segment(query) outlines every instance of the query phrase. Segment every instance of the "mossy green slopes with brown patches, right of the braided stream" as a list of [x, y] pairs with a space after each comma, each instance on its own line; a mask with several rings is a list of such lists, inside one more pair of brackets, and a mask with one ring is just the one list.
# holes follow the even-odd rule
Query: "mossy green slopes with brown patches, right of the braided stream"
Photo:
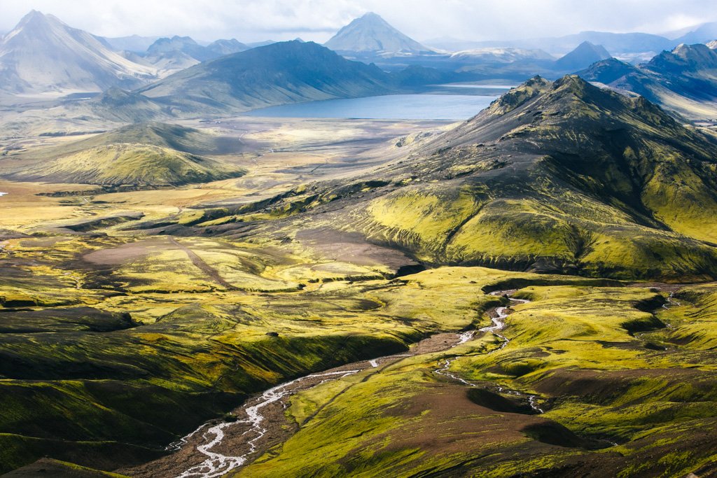
[[[699, 340], [653, 345], [683, 337], [673, 317], [713, 308], [712, 289], [690, 288], [679, 297], [695, 302], [663, 310], [647, 289], [526, 287], [516, 297], [533, 302], [515, 307], [505, 348], [485, 334], [299, 393], [287, 411], [299, 431], [235, 475], [697, 473], [717, 458], [713, 360], [695, 355]], [[631, 333], [636, 325], [646, 331]], [[456, 355], [450, 370], [477, 388], [435, 373]], [[527, 406], [530, 394], [544, 414]]]

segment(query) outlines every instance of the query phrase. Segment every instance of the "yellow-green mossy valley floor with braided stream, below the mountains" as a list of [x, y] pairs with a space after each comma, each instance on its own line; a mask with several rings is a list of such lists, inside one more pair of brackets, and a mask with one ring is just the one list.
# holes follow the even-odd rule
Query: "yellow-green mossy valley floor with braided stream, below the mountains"
[[[168, 230], [374, 171], [449, 126], [186, 125], [238, 139], [218, 156], [247, 173], [0, 181], [0, 473], [717, 476], [717, 284], [432, 268], [342, 231]], [[66, 141], [4, 143], [37, 158], [0, 170]]]

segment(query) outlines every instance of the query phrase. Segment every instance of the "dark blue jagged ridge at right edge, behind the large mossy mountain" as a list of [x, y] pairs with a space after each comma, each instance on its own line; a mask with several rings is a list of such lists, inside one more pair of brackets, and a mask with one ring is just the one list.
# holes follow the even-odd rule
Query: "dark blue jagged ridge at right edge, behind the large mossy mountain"
[[704, 44], [680, 44], [633, 67], [598, 62], [581, 77], [617, 90], [635, 92], [687, 118], [717, 117], [717, 51]]

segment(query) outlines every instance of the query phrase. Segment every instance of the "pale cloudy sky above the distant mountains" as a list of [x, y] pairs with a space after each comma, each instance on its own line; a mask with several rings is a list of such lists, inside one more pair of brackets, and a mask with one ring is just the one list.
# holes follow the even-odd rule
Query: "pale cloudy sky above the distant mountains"
[[189, 35], [325, 42], [374, 11], [419, 41], [501, 40], [584, 30], [663, 33], [717, 21], [717, 0], [0, 0], [0, 32], [30, 9], [105, 37]]

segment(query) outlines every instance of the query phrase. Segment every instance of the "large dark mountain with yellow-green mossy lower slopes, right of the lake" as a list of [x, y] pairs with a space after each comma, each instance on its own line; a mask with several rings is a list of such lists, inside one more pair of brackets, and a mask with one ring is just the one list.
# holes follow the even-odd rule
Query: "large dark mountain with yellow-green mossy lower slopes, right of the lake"
[[[717, 277], [717, 138], [642, 97], [536, 77], [432, 138], [353, 181], [262, 206], [293, 216], [214, 232], [320, 241], [341, 231], [432, 266]], [[237, 212], [208, 210], [195, 224]]]

